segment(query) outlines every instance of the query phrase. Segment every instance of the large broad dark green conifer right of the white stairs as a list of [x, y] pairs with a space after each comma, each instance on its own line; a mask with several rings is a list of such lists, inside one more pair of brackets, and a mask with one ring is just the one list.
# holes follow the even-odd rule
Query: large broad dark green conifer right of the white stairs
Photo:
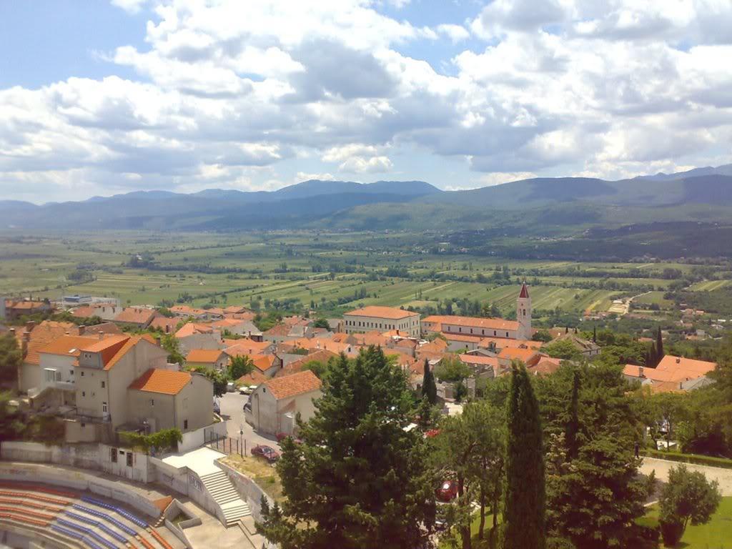
[[302, 444], [283, 442], [286, 497], [258, 531], [283, 549], [425, 548], [433, 481], [406, 374], [381, 348], [341, 355], [324, 379]]

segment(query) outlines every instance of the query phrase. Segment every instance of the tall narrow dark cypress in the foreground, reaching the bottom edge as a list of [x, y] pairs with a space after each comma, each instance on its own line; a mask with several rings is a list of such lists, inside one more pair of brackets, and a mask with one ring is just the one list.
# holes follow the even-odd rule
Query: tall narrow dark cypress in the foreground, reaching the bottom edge
[[514, 365], [507, 402], [504, 549], [544, 549], [545, 479], [539, 403], [523, 365]]

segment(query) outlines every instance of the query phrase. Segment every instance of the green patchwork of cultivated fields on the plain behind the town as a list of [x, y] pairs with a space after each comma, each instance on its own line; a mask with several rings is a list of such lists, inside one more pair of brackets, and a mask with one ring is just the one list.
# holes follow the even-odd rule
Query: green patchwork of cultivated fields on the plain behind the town
[[[664, 299], [673, 282], [662, 277], [664, 269], [685, 275], [693, 268], [425, 253], [420, 238], [322, 232], [5, 238], [0, 241], [0, 292], [50, 299], [77, 293], [112, 296], [122, 304], [259, 302], [263, 308], [315, 307], [327, 314], [360, 305], [425, 308], [468, 299], [509, 314], [525, 279], [534, 310], [580, 314], [608, 311], [613, 299], [638, 294], [643, 294], [639, 303], [673, 307]], [[703, 280], [690, 290], [727, 284]]]

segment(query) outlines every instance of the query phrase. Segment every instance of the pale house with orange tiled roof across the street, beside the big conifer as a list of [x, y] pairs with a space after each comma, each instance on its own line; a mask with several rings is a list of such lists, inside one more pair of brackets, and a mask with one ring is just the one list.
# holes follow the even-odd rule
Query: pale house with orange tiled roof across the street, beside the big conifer
[[272, 378], [260, 384], [244, 405], [244, 419], [259, 433], [294, 434], [296, 417], [306, 421], [315, 414], [321, 381], [310, 370]]

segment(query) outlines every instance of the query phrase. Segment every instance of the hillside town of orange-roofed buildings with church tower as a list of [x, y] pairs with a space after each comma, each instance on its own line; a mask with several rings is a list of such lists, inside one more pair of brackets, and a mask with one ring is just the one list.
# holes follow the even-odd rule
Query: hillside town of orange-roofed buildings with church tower
[[[168, 531], [151, 527], [154, 539], [147, 542], [157, 539], [163, 547], [179, 546], [181, 540], [195, 546], [211, 535], [228, 539], [232, 546], [248, 543], [258, 548], [267, 543], [255, 521], [266, 513], [262, 501], [275, 503], [282, 496], [258, 486], [261, 472], [251, 463], [274, 465], [283, 452], [281, 443], [299, 440], [303, 426], [316, 414], [324, 376], [339, 360], [358, 359], [378, 349], [389, 367], [403, 373], [414, 402], [429, 395], [430, 405], [449, 421], [461, 417], [464, 406], [490, 400], [496, 390], [492, 387], [500, 386], [517, 367], [530, 377], [550, 379], [571, 365], [602, 364], [622, 345], [607, 330], [586, 333], [566, 326], [532, 326], [531, 288], [526, 283], [515, 296], [516, 320], [422, 318], [403, 307], [366, 305], [341, 318], [324, 318], [315, 310], [283, 316], [264, 330], [257, 326], [261, 315], [244, 305], [122, 307], [115, 299], [90, 295], [64, 296], [56, 302], [0, 301], [0, 358], [4, 386], [10, 389], [2, 413], [22, 425], [4, 427], [0, 478], [20, 476], [30, 482], [37, 477], [68, 488], [56, 477], [55, 466], [61, 471], [83, 468], [92, 472], [81, 487], [113, 499], [113, 492], [95, 484], [102, 478], [98, 475], [133, 481], [135, 488], [127, 488], [122, 501], [148, 498], [149, 505], [159, 507], [154, 516], [175, 512], [193, 521], [185, 529], [168, 520]], [[676, 418], [664, 399], [714, 385], [717, 364], [665, 354], [660, 331], [657, 340], [642, 339], [625, 344], [648, 351], [635, 362], [629, 358], [617, 371], [627, 390], [637, 387], [638, 395], [646, 395], [643, 400], [659, 402], [652, 405], [660, 406], [658, 415], [646, 418], [650, 423], [643, 437], [644, 471], [655, 458], [668, 457], [662, 452], [680, 445], [679, 428], [671, 425]], [[433, 389], [426, 386], [430, 383]], [[426, 433], [445, 428], [439, 427], [439, 415], [417, 417], [406, 428], [418, 425]], [[637, 456], [638, 443], [635, 452]], [[37, 463], [44, 467], [39, 469]], [[454, 475], [444, 474], [435, 491], [438, 501], [458, 502], [463, 497]], [[37, 520], [32, 512], [23, 514], [23, 502], [31, 504], [56, 490], [30, 484], [16, 488], [26, 491], [15, 491], [21, 507], [8, 518], [21, 522]], [[73, 493], [63, 501], [85, 501], [86, 496]], [[176, 502], [174, 511], [171, 501]], [[181, 501], [190, 501], [195, 510]], [[143, 509], [149, 512], [149, 507]], [[40, 523], [53, 525], [53, 516], [44, 515], [46, 522]], [[55, 531], [63, 537], [91, 520], [77, 518], [59, 519]], [[144, 538], [142, 532], [135, 535]], [[94, 537], [115, 542], [99, 530]]]

